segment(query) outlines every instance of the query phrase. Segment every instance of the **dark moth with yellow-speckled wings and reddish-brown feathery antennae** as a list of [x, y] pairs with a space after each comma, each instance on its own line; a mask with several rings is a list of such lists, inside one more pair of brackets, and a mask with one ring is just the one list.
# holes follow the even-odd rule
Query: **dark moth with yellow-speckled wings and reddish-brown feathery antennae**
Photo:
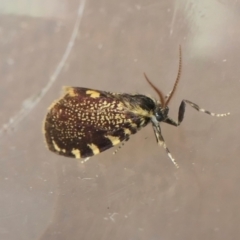
[[172, 157], [161, 133], [160, 123], [179, 126], [184, 118], [186, 104], [211, 116], [224, 117], [197, 104], [182, 100], [178, 120], [168, 116], [168, 105], [176, 91], [181, 75], [182, 55], [179, 48], [179, 69], [172, 91], [164, 94], [149, 80], [159, 99], [142, 94], [112, 93], [82, 87], [65, 87], [64, 95], [48, 110], [44, 121], [44, 135], [49, 150], [66, 157], [88, 158], [120, 142], [127, 141], [149, 123], [152, 124], [157, 143]]

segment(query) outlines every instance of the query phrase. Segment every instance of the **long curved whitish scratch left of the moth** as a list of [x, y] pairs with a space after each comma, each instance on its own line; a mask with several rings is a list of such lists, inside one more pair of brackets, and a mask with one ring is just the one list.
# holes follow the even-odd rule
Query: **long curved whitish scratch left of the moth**
[[12, 116], [7, 123], [3, 124], [0, 128], [0, 136], [3, 134], [4, 131], [6, 131], [9, 128], [16, 128], [17, 125], [30, 113], [30, 111], [42, 100], [42, 98], [45, 96], [45, 94], [49, 91], [49, 89], [52, 87], [53, 83], [56, 81], [57, 77], [61, 73], [64, 64], [67, 61], [67, 58], [70, 55], [70, 52], [73, 48], [73, 45], [76, 41], [77, 34], [79, 31], [79, 26], [81, 24], [84, 7], [85, 7], [86, 0], [80, 0], [78, 12], [77, 12], [77, 19], [75, 21], [73, 31], [71, 34], [71, 37], [69, 39], [69, 42], [67, 44], [66, 50], [62, 56], [62, 59], [58, 63], [55, 71], [50, 76], [50, 80], [46, 84], [44, 88], [41, 89], [40, 92], [36, 93], [35, 95], [32, 95], [31, 97], [25, 99], [22, 103], [21, 109]]

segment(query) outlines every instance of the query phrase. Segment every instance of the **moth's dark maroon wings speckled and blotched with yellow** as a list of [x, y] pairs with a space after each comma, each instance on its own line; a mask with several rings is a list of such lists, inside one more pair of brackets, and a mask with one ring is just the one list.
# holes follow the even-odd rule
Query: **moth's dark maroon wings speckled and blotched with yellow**
[[139, 106], [132, 95], [66, 87], [45, 119], [48, 148], [67, 157], [85, 158], [127, 140], [150, 121], [144, 113], [131, 111], [134, 104]]

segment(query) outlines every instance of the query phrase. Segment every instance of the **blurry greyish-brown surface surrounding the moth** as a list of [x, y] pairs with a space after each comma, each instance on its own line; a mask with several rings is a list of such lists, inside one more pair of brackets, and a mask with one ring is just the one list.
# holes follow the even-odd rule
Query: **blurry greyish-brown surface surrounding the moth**
[[[0, 239], [172, 240], [240, 236], [240, 2], [0, 1]], [[112, 155], [57, 156], [42, 121], [62, 86], [156, 97], [176, 169], [147, 126]]]

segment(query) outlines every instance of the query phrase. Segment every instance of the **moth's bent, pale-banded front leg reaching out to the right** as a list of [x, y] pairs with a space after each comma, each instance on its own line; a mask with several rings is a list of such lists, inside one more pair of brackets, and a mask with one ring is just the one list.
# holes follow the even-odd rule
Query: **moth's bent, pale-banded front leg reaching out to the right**
[[184, 118], [184, 113], [185, 113], [185, 107], [186, 107], [186, 103], [189, 104], [191, 107], [193, 107], [194, 109], [196, 109], [199, 112], [203, 112], [203, 113], [207, 113], [213, 117], [226, 117], [228, 115], [230, 115], [230, 113], [213, 113], [213, 112], [209, 112], [208, 110], [205, 110], [203, 108], [200, 108], [197, 104], [189, 101], [189, 100], [182, 100], [180, 106], [179, 106], [179, 110], [178, 110], [178, 122], [167, 118], [164, 122], [171, 124], [173, 126], [179, 126], [181, 124], [181, 122], [183, 121]]

